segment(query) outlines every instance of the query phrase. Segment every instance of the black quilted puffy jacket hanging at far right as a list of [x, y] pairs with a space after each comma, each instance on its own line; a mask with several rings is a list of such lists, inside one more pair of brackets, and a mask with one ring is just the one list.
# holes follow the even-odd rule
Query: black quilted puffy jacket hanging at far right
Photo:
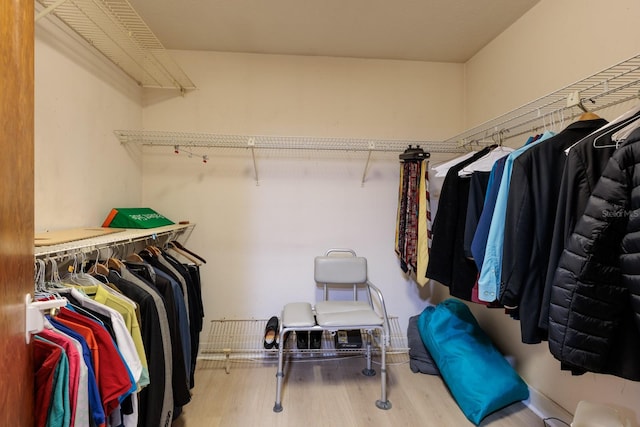
[[640, 380], [640, 131], [613, 154], [566, 242], [549, 349], [574, 370]]

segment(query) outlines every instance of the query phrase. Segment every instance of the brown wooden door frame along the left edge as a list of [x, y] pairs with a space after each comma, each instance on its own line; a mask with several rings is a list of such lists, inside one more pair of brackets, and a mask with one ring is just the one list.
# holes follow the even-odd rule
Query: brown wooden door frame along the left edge
[[0, 425], [34, 423], [34, 2], [0, 1]]

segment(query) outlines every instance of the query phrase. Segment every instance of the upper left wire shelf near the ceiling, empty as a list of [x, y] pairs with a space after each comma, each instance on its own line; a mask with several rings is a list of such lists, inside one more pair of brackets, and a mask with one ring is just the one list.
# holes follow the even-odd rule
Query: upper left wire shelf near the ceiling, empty
[[142, 87], [195, 85], [127, 0], [36, 0], [35, 20], [54, 15]]

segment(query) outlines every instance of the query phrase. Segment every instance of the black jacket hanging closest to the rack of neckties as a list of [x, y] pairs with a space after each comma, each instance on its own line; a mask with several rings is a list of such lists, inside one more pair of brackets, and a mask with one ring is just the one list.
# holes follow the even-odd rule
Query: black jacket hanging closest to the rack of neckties
[[475, 263], [464, 254], [464, 223], [470, 184], [469, 179], [459, 177], [458, 172], [493, 148], [484, 148], [449, 168], [433, 220], [433, 240], [426, 276], [449, 286], [451, 295], [467, 301], [471, 300], [477, 269]]

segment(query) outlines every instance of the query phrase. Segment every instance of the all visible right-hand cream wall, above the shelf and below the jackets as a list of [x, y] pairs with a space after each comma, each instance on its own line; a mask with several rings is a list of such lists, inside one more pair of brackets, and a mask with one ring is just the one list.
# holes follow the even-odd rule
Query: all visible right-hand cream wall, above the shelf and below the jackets
[[[640, 2], [542, 0], [466, 64], [466, 123], [474, 125], [640, 52]], [[598, 112], [617, 117], [629, 105]], [[523, 141], [510, 141], [518, 145]], [[472, 307], [528, 384], [573, 412], [581, 399], [637, 408], [640, 385], [596, 374], [571, 376], [546, 344], [520, 343], [517, 322]]]

